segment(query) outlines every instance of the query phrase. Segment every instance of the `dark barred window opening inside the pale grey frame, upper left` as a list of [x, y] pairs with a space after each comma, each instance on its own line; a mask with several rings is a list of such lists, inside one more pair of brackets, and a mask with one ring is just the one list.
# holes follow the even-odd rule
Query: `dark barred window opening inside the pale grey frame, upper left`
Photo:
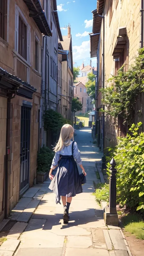
[[19, 51], [18, 53], [27, 59], [27, 26], [19, 16]]

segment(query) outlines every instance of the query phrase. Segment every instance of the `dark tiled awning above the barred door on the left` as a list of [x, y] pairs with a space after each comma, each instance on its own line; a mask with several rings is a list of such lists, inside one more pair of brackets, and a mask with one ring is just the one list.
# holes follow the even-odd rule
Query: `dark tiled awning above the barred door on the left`
[[36, 91], [36, 88], [2, 68], [0, 68], [0, 87], [9, 90], [16, 90], [17, 95], [27, 99], [32, 99], [33, 93]]

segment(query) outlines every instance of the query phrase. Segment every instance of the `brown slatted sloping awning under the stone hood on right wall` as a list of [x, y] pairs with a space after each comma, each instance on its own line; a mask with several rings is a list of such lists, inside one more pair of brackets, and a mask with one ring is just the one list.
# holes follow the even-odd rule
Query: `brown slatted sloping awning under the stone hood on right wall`
[[126, 36], [117, 37], [115, 48], [112, 53], [113, 59], [119, 58], [120, 53], [122, 52], [123, 48], [125, 47], [125, 44], [126, 44]]

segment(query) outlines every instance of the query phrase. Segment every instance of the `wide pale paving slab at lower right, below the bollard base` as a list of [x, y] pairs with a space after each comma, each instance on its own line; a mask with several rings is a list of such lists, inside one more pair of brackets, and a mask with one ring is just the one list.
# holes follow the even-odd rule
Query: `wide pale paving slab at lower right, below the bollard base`
[[110, 235], [110, 238], [115, 250], [127, 251], [127, 248], [120, 230], [110, 229], [108, 230], [108, 233]]

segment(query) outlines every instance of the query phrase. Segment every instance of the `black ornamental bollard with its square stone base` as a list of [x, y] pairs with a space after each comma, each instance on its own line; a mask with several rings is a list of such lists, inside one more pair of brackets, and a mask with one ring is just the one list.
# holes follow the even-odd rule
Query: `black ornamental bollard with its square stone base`
[[112, 158], [110, 162], [111, 173], [109, 178], [109, 207], [105, 207], [104, 220], [107, 225], [118, 226], [118, 214], [116, 210], [116, 176], [117, 169], [115, 169], [116, 162]]

